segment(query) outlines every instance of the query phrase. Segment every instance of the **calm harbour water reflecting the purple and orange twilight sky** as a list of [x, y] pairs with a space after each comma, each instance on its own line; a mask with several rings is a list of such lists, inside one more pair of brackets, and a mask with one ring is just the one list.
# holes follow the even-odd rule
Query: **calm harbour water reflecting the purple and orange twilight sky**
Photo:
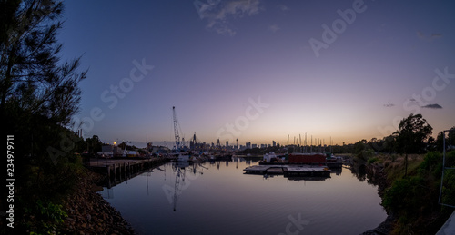
[[378, 188], [349, 169], [294, 181], [244, 174], [258, 164], [244, 159], [174, 164], [101, 194], [139, 234], [359, 234], [387, 217]]

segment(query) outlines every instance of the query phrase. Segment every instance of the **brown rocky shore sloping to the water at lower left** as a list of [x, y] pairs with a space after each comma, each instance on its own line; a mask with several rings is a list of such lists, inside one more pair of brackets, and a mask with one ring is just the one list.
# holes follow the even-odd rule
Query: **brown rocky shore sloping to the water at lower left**
[[96, 191], [105, 176], [86, 171], [78, 181], [76, 191], [70, 195], [64, 208], [68, 217], [57, 233], [63, 234], [135, 234], [120, 212], [116, 211]]

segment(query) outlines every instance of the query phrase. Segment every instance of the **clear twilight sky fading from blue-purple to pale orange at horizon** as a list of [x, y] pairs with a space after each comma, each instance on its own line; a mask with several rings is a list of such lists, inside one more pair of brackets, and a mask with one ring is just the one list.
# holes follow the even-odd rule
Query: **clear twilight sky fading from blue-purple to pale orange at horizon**
[[421, 113], [455, 126], [452, 1], [64, 1], [82, 56], [74, 130], [102, 142], [329, 144]]

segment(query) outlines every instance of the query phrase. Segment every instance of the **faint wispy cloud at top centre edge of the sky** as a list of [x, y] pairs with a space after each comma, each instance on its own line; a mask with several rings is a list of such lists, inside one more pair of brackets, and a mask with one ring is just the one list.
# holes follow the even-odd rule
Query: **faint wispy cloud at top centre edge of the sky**
[[259, 0], [234, 0], [234, 1], [207, 1], [207, 4], [195, 1], [197, 12], [201, 19], [207, 20], [206, 28], [217, 34], [237, 34], [231, 19], [244, 16], [257, 15], [259, 13]]

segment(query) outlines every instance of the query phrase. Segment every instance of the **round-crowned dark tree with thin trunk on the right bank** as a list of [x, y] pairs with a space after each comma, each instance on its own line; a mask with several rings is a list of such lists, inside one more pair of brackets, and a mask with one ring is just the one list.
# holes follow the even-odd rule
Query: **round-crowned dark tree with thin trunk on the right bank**
[[398, 152], [405, 154], [405, 176], [408, 174], [408, 154], [422, 153], [433, 128], [422, 115], [410, 113], [410, 116], [399, 122], [396, 142]]

